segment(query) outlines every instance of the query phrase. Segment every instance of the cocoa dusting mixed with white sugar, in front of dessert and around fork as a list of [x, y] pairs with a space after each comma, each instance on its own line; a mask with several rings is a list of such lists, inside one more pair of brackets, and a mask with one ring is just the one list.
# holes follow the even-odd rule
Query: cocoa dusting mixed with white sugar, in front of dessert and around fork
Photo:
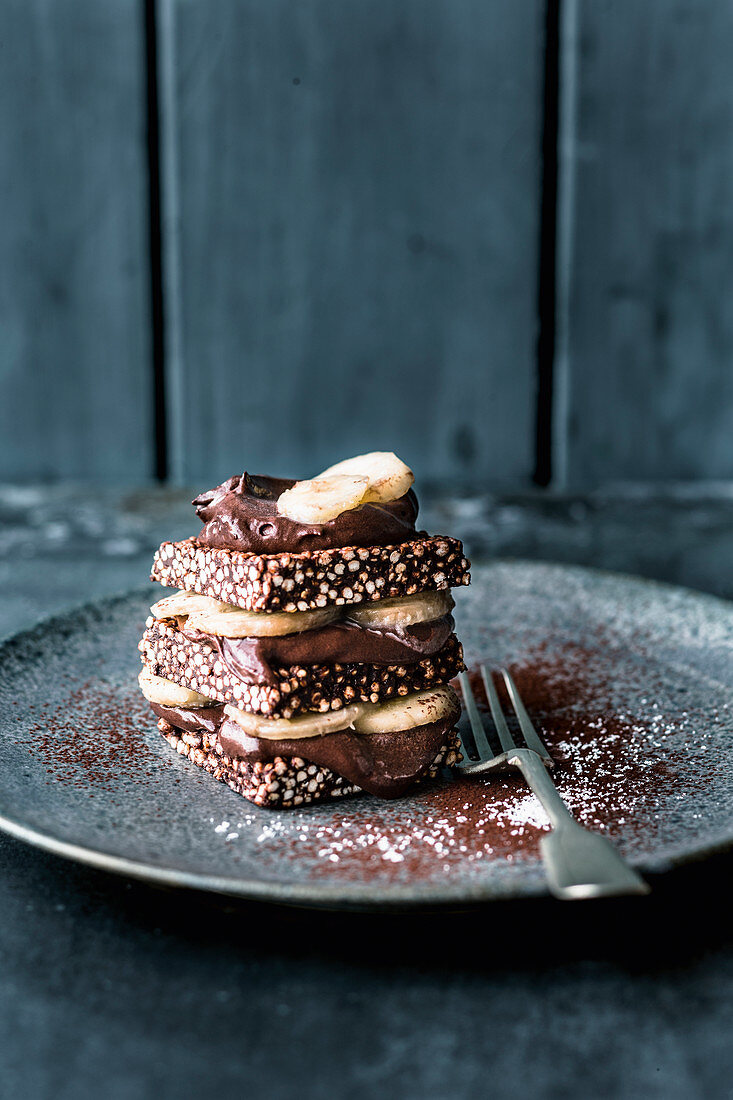
[[[664, 829], [675, 800], [694, 796], [703, 780], [690, 776], [689, 751], [704, 748], [709, 736], [708, 725], [699, 726], [697, 715], [680, 706], [683, 689], [675, 697], [669, 678], [657, 680], [641, 657], [599, 637], [588, 647], [543, 646], [511, 668], [556, 761], [553, 778], [573, 816], [630, 856]], [[488, 715], [478, 670], [470, 676]], [[508, 715], [503, 685], [497, 686]], [[624, 706], [630, 698], [641, 700], [641, 713]], [[680, 732], [689, 751], [667, 744], [675, 738], [679, 745]], [[310, 864], [317, 856], [316, 876], [338, 864], [339, 878], [362, 880], [373, 872], [419, 881], [449, 876], [467, 861], [536, 859], [539, 837], [549, 827], [539, 802], [514, 772], [426, 784], [396, 815], [381, 813], [383, 805], [361, 798], [344, 802], [336, 814], [332, 809], [327, 815], [304, 811], [271, 818], [243, 813], [216, 825], [216, 832], [236, 842], [243, 829], [254, 829], [261, 843], [277, 844], [285, 858]]]

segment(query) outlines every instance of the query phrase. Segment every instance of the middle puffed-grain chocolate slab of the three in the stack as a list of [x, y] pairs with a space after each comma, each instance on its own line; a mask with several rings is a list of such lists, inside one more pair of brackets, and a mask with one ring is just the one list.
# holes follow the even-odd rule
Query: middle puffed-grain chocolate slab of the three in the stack
[[448, 683], [464, 668], [456, 635], [434, 656], [411, 664], [302, 664], [273, 668], [277, 684], [253, 684], [221, 660], [215, 645], [193, 641], [171, 619], [149, 618], [139, 646], [157, 676], [270, 717], [338, 711], [349, 703], [381, 703]]

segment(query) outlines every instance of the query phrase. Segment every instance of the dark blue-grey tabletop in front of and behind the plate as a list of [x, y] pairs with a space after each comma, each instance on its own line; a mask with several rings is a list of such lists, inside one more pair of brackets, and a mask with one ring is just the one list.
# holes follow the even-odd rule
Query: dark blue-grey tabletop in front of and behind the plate
[[[3, 632], [143, 584], [189, 498], [0, 487]], [[475, 560], [733, 596], [726, 486], [428, 499]], [[0, 835], [0, 1096], [731, 1097], [732, 872], [379, 917], [166, 892]]]

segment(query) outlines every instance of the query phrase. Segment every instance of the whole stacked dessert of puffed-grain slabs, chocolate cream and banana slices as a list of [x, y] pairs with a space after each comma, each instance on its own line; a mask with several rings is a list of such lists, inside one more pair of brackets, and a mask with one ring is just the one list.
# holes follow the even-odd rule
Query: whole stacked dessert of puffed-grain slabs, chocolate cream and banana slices
[[387, 452], [309, 481], [241, 476], [164, 542], [140, 686], [166, 740], [258, 805], [397, 798], [458, 762], [461, 543], [416, 530]]

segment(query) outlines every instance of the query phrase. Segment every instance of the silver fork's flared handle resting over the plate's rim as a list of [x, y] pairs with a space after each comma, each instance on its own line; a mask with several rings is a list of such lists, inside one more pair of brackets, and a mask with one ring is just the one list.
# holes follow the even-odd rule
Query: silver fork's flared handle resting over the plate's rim
[[644, 894], [644, 879], [622, 859], [610, 840], [583, 828], [572, 817], [532, 749], [517, 749], [507, 759], [515, 765], [543, 804], [553, 826], [539, 842], [547, 880], [556, 898], [601, 898]]

